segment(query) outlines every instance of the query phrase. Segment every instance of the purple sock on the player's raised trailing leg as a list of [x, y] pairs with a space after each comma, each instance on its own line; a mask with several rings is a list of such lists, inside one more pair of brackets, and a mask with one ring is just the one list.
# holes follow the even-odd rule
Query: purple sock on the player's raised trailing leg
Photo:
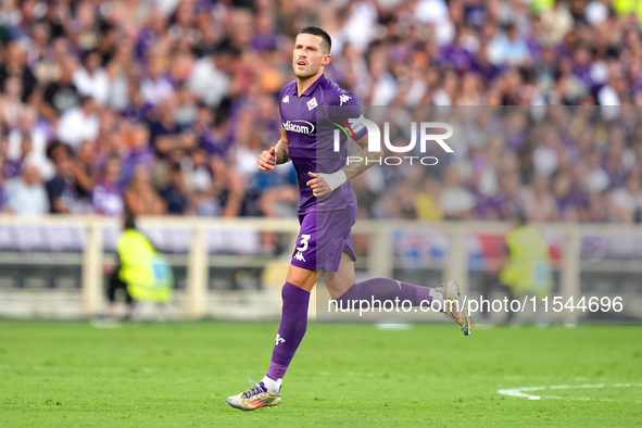
[[418, 306], [423, 300], [432, 303], [430, 287], [418, 287], [412, 284], [396, 281], [390, 278], [373, 278], [363, 282], [357, 282], [350, 287], [337, 302], [347, 303], [351, 300], [367, 300], [368, 302], [390, 300], [399, 298], [401, 302], [408, 300], [413, 306]]

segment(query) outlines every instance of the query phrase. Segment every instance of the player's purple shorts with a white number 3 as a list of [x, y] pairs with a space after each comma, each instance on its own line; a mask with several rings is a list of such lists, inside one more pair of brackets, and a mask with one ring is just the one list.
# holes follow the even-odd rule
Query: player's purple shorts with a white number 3
[[356, 205], [339, 211], [311, 212], [299, 215], [301, 230], [292, 264], [310, 270], [339, 270], [341, 254], [356, 260], [350, 229], [356, 221]]

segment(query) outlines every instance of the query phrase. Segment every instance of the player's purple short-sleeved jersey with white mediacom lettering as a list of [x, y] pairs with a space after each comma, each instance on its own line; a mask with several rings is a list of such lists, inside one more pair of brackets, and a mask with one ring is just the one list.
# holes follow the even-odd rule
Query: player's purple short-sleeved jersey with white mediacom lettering
[[[331, 122], [332, 111], [340, 112], [341, 118], [357, 118], [361, 106], [354, 96], [339, 87], [324, 74], [299, 97], [297, 80], [284, 86], [279, 93], [281, 125], [288, 136], [288, 154], [299, 180], [299, 214], [314, 211], [341, 210], [356, 204], [356, 197], [350, 181], [335, 189], [329, 194], [317, 199], [305, 184], [312, 179], [307, 173], [331, 174], [345, 166], [348, 148], [345, 137], [341, 135], [340, 152], [332, 151], [333, 129], [317, 126], [317, 114], [327, 123]], [[329, 110], [327, 106], [340, 106]], [[355, 131], [356, 139], [366, 135], [364, 127]], [[319, 160], [319, 162], [317, 162]]]

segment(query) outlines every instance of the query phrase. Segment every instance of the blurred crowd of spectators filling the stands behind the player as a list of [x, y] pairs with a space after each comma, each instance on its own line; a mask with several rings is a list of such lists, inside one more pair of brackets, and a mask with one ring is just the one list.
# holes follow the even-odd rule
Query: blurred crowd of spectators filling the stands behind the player
[[[353, 180], [363, 216], [502, 219], [521, 206], [533, 221], [637, 222], [642, 11], [634, 8], [4, 0], [1, 209], [293, 216], [291, 165], [273, 173], [255, 165], [280, 135], [277, 97], [293, 79], [293, 38], [318, 25], [333, 42], [326, 75], [362, 105], [456, 106], [449, 114], [466, 129], [455, 156], [436, 167], [375, 167]], [[489, 108], [458, 108], [470, 105]], [[491, 108], [501, 105], [520, 106]]]

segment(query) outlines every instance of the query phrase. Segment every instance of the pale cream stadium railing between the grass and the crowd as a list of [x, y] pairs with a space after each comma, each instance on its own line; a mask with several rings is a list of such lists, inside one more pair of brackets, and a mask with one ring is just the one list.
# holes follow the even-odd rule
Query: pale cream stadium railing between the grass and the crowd
[[[255, 307], [248, 295], [266, 290], [261, 305], [269, 307], [263, 314], [278, 315], [275, 291], [285, 279], [299, 231], [295, 219], [164, 216], [141, 217], [138, 224], [178, 269], [178, 317], [248, 318], [250, 307]], [[564, 302], [571, 297], [620, 295], [628, 299], [627, 315], [642, 318], [641, 226], [537, 226], [553, 255], [555, 295]], [[1, 215], [0, 316], [99, 314], [104, 304], [103, 265], [113, 259], [119, 227], [119, 221], [100, 216]], [[360, 219], [353, 234], [368, 243], [357, 261], [357, 277], [414, 276], [425, 285], [456, 279], [465, 293], [478, 295], [481, 276], [496, 274], [507, 228], [504, 223]], [[265, 232], [285, 237], [280, 252], [264, 251]], [[494, 242], [494, 250], [489, 242]], [[50, 306], [42, 310], [62, 305], [61, 292], [77, 304], [67, 304], [64, 315]], [[46, 302], [34, 309], [34, 299], [43, 295]], [[580, 316], [570, 310], [557, 315], [566, 323]]]

